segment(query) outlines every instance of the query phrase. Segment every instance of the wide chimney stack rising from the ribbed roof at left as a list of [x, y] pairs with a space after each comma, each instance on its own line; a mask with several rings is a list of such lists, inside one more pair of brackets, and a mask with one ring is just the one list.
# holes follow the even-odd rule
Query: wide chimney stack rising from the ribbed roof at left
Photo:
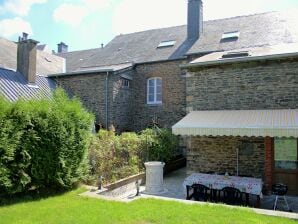
[[27, 39], [27, 36], [19, 38], [17, 50], [17, 71], [25, 76], [28, 83], [36, 81], [36, 46], [38, 41]]

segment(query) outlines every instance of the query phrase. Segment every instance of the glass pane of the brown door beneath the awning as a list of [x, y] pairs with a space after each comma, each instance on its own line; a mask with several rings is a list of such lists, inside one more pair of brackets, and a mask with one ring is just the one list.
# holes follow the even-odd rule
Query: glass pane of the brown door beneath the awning
[[275, 138], [274, 160], [277, 169], [298, 169], [297, 139]]

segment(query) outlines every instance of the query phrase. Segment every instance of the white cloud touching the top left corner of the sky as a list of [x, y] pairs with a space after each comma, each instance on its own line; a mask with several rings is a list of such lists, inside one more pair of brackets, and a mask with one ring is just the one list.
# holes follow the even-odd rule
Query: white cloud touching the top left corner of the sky
[[25, 16], [34, 4], [46, 3], [47, 0], [6, 0], [0, 5], [0, 13], [13, 13], [19, 16]]

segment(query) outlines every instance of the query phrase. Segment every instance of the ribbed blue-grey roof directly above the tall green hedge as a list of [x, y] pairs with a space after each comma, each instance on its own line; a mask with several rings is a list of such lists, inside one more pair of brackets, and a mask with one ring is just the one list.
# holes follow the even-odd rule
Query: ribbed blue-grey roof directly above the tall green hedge
[[55, 82], [45, 76], [36, 76], [36, 86], [28, 85], [25, 77], [16, 71], [0, 68], [0, 95], [10, 101], [19, 98], [31, 99], [40, 96], [51, 97]]

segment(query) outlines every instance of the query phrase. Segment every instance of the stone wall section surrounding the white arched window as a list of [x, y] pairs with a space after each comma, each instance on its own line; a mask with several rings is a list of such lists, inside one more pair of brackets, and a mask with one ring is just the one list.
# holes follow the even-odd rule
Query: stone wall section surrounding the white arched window
[[[135, 131], [152, 126], [157, 121], [160, 127], [171, 128], [186, 114], [185, 77], [180, 64], [183, 61], [157, 62], [136, 66], [133, 79], [133, 120]], [[162, 78], [162, 104], [147, 104], [147, 79]]]

